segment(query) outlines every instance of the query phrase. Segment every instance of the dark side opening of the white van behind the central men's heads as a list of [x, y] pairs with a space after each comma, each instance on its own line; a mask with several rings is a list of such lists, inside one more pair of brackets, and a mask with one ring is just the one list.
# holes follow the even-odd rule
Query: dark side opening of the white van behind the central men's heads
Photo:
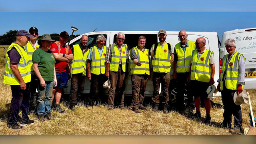
[[[116, 42], [116, 35], [114, 35], [114, 43]], [[124, 34], [125, 40], [124, 44], [127, 44], [129, 50], [134, 48], [135, 46], [138, 46], [138, 38], [140, 36], [146, 37], [146, 44], [145, 48], [150, 50], [151, 46], [155, 43], [157, 43], [158, 36], [157, 34]]]

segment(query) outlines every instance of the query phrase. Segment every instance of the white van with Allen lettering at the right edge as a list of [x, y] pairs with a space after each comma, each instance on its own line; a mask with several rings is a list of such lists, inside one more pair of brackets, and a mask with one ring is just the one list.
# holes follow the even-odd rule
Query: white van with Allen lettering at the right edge
[[245, 61], [245, 89], [256, 88], [256, 28], [231, 30], [223, 33], [220, 46], [220, 64], [225, 54], [227, 38], [236, 40], [236, 51], [243, 54]]

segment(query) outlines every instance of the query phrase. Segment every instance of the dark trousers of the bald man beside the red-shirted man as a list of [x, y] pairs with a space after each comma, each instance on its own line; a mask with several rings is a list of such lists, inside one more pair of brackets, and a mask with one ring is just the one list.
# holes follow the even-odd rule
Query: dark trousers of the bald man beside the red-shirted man
[[72, 74], [70, 88], [70, 106], [75, 106], [78, 102], [82, 102], [84, 93], [85, 76], [82, 73]]

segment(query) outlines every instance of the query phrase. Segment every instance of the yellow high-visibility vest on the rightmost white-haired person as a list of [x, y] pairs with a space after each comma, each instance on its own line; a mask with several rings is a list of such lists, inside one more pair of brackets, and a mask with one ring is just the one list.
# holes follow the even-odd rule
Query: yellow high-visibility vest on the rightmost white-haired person
[[[239, 52], [235, 52], [232, 58], [229, 61], [228, 67], [226, 68], [226, 61], [228, 58], [228, 54], [223, 56], [223, 66], [222, 71], [220, 73], [220, 90], [223, 90], [223, 82], [224, 82], [224, 73], [226, 72], [225, 86], [229, 90], [236, 90], [239, 78], [239, 70], [238, 70], [238, 60], [242, 54]], [[243, 56], [244, 57], [244, 56]], [[245, 58], [244, 58], [245, 61]], [[244, 85], [242, 86], [244, 88]]]

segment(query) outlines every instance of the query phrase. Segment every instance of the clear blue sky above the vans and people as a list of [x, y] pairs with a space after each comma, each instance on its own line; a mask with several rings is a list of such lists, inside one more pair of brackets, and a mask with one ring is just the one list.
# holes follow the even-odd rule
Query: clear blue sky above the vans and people
[[[161, 3], [159, 3], [161, 2]], [[36, 26], [39, 35], [97, 31], [156, 30], [223, 32], [256, 27], [252, 0], [44, 0], [0, 2], [0, 35]]]

